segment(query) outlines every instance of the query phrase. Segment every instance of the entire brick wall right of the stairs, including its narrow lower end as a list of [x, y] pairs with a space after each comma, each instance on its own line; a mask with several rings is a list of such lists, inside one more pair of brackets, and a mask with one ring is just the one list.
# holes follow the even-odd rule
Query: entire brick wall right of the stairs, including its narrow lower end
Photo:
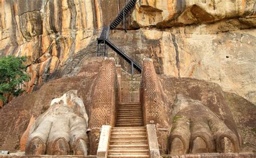
[[166, 104], [164, 98], [160, 79], [154, 70], [153, 62], [151, 59], [145, 58], [140, 84], [140, 101], [143, 106], [144, 124], [154, 123], [157, 127], [160, 154], [167, 151], [170, 129], [169, 105]]

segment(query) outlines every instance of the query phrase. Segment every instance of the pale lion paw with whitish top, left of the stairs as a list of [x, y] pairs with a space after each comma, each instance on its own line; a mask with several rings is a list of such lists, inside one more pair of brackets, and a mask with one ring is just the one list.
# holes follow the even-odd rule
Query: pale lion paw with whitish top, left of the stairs
[[53, 99], [50, 108], [33, 123], [26, 155], [87, 155], [88, 116], [83, 100], [71, 90]]

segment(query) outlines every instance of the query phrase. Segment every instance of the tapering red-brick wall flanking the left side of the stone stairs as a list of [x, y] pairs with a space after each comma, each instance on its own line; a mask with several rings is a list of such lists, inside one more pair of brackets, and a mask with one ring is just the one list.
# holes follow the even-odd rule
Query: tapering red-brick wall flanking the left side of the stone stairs
[[114, 60], [105, 59], [99, 70], [89, 116], [91, 155], [96, 155], [97, 153], [100, 128], [102, 125], [114, 126], [115, 123], [115, 107], [117, 103], [116, 78]]

